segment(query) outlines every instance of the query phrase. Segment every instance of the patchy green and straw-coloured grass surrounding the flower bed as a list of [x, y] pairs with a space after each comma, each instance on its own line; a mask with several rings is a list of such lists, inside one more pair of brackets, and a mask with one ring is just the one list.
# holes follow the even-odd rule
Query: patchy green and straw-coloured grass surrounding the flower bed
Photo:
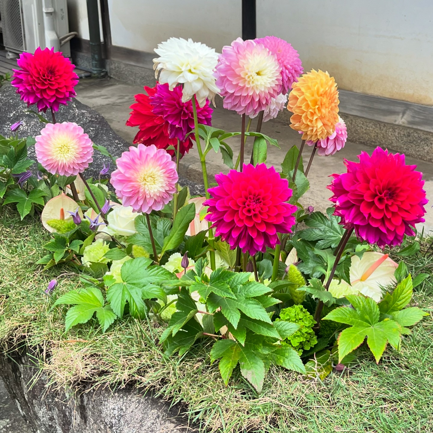
[[[206, 432], [433, 431], [431, 317], [404, 337], [400, 352], [387, 349], [379, 365], [361, 350], [358, 365], [323, 382], [271, 368], [258, 395], [239, 373], [224, 386], [205, 341], [193, 353], [166, 359], [154, 323], [119, 321], [102, 334], [93, 322], [65, 333], [66, 308], [53, 304], [79, 286], [78, 277], [67, 268], [42, 272], [35, 265], [49, 239], [36, 218], [21, 222], [12, 208], [0, 207], [0, 229], [0, 352], [16, 345], [38, 348], [34, 360], [52, 388], [74, 389], [83, 382], [93, 388], [142, 387], [180, 403], [189, 421]], [[431, 272], [428, 243], [406, 260], [415, 274], [422, 266]], [[49, 297], [44, 290], [54, 277], [59, 285]], [[433, 308], [432, 277], [418, 286], [412, 303]]]

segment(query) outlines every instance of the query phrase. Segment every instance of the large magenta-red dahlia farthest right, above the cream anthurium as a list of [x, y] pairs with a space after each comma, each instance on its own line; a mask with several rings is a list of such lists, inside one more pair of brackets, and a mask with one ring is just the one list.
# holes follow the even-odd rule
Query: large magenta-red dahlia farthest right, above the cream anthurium
[[422, 173], [405, 165], [404, 155], [377, 147], [372, 156], [362, 152], [359, 162], [345, 160], [347, 173], [333, 174], [328, 188], [340, 224], [354, 227], [359, 238], [383, 248], [400, 245], [414, 236], [413, 227], [424, 221], [427, 203]]

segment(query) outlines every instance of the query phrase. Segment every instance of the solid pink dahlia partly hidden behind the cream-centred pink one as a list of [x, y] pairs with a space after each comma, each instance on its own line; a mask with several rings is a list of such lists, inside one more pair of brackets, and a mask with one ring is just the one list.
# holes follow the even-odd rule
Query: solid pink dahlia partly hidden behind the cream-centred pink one
[[280, 93], [285, 95], [291, 89], [292, 84], [304, 72], [298, 52], [291, 44], [276, 36], [265, 36], [254, 40], [265, 45], [272, 54], [277, 56], [282, 78]]

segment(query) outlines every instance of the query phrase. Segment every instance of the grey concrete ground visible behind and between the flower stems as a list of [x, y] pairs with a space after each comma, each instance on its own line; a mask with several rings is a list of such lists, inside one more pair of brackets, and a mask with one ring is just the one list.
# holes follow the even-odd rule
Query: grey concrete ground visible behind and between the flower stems
[[[95, 81], [92, 79], [81, 80], [75, 87], [77, 90], [77, 98], [80, 102], [89, 105], [90, 107], [101, 113], [110, 126], [126, 141], [132, 143], [132, 140], [138, 128], [126, 126], [125, 122], [129, 117], [129, 106], [134, 102], [134, 95], [143, 93], [144, 90], [140, 86], [125, 84], [113, 79], [104, 79]], [[223, 109], [222, 100], [216, 97], [216, 109], [213, 113], [212, 126], [226, 130], [227, 132], [240, 131], [241, 117], [233, 111]], [[276, 119], [263, 123], [262, 132], [272, 138], [278, 139], [281, 149], [274, 146], [268, 146], [268, 165], [275, 165], [277, 170], [280, 168], [281, 162], [288, 149], [292, 145], [300, 145], [300, 135], [290, 128], [288, 124], [288, 115], [281, 113]], [[251, 130], [255, 130], [257, 120], [253, 119]], [[249, 161], [252, 150], [252, 138], [247, 139], [245, 160]], [[239, 153], [240, 138], [234, 137], [227, 140], [232, 146], [234, 159], [236, 160]], [[306, 146], [304, 149], [305, 165], [310, 158], [311, 148]], [[342, 173], [345, 170], [343, 158], [355, 161], [356, 155], [362, 151], [371, 153], [372, 147], [362, 145], [355, 142], [347, 142], [343, 150], [336, 155], [320, 157], [315, 156], [313, 164], [310, 168], [308, 178], [310, 180], [310, 190], [302, 197], [302, 204], [304, 207], [313, 206], [316, 210], [324, 211], [326, 207], [330, 206], [328, 198], [331, 196], [330, 191], [326, 185], [330, 184], [329, 175], [333, 173]], [[406, 158], [408, 164], [417, 165], [417, 169], [424, 173], [425, 190], [427, 191], [427, 198], [433, 199], [433, 163], [425, 162], [420, 159]], [[228, 168], [223, 165], [220, 153], [216, 154], [210, 151], [207, 154], [208, 173], [213, 176], [220, 171], [227, 171]], [[198, 158], [197, 150], [195, 147], [190, 150], [189, 154], [181, 160], [180, 174], [190, 179], [202, 183], [202, 172], [200, 160]], [[210, 179], [210, 182], [213, 179]], [[426, 223], [424, 224], [425, 230], [433, 230], [433, 210], [427, 204]], [[418, 227], [418, 229], [421, 228]]]

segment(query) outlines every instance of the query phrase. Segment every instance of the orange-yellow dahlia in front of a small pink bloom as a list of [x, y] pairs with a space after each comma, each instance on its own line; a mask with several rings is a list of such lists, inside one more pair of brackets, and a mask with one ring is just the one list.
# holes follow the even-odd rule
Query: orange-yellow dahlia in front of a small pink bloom
[[303, 140], [317, 142], [333, 134], [338, 122], [338, 90], [327, 72], [307, 72], [292, 85], [287, 109], [290, 127], [302, 131]]

